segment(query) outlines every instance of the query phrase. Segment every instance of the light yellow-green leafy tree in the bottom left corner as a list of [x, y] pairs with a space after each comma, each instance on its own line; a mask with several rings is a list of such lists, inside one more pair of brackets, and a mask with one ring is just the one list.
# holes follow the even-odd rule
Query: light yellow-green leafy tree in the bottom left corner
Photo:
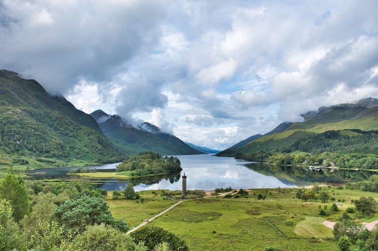
[[0, 198], [0, 250], [23, 250], [24, 240], [19, 226], [13, 221], [9, 201]]

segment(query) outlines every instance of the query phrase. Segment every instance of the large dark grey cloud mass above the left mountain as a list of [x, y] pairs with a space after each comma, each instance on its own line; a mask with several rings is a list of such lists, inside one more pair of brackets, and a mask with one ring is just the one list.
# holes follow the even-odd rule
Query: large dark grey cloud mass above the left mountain
[[1, 4], [0, 64], [66, 94], [80, 80], [109, 81], [158, 41], [164, 1], [24, 1]]

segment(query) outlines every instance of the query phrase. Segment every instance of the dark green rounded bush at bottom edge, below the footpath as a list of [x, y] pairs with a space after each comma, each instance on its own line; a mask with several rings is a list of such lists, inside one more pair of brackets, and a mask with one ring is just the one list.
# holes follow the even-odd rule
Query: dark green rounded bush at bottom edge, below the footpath
[[167, 243], [172, 251], [189, 251], [184, 240], [181, 240], [174, 233], [158, 226], [144, 226], [132, 232], [131, 237], [136, 243], [144, 242], [149, 250], [153, 250], [160, 243]]

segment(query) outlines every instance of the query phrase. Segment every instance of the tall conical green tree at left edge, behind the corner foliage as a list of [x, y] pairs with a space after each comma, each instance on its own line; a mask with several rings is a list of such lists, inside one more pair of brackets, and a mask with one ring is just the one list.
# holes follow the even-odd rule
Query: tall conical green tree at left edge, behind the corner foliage
[[9, 171], [0, 183], [0, 196], [10, 202], [16, 222], [29, 213], [29, 197], [24, 180], [14, 176], [12, 171]]

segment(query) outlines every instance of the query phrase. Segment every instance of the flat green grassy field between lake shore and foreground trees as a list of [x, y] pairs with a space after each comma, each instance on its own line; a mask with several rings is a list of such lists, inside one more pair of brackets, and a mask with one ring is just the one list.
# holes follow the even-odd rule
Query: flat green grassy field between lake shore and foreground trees
[[[276, 247], [285, 251], [335, 251], [337, 243], [324, 220], [336, 220], [351, 206], [350, 200], [377, 193], [359, 190], [337, 190], [324, 187], [337, 200], [345, 200], [339, 212], [328, 217], [318, 215], [318, 206], [332, 204], [304, 202], [295, 198], [296, 189], [252, 189], [248, 199], [209, 197], [188, 200], [151, 222], [183, 238], [191, 251], [263, 251]], [[107, 199], [116, 219], [137, 226], [176, 201], [163, 200], [161, 191], [141, 192], [144, 203]], [[257, 194], [266, 200], [257, 200]], [[304, 226], [304, 227], [303, 227]], [[307, 228], [307, 230], [305, 229]], [[314, 236], [317, 235], [318, 237]]]

